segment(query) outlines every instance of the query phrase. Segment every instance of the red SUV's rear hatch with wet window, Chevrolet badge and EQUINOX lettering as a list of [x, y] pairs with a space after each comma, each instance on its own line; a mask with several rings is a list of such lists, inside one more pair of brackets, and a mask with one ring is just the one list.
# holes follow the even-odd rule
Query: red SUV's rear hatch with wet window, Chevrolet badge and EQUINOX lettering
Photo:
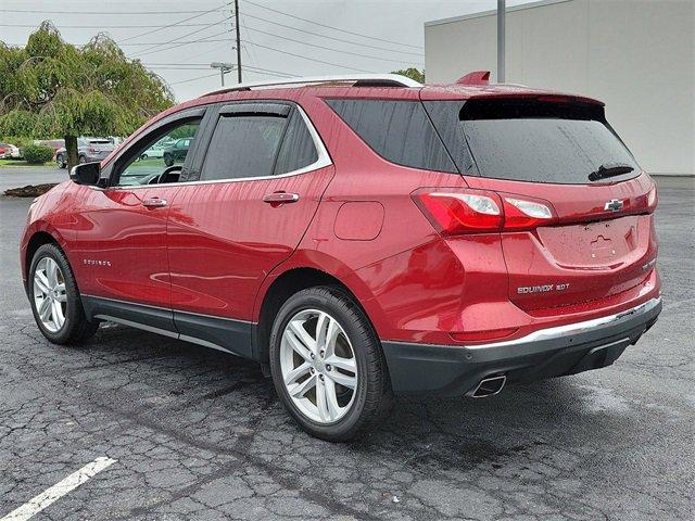
[[[425, 102], [432, 122], [451, 134], [453, 116], [435, 103]], [[511, 302], [534, 315], [582, 309], [648, 278], [656, 188], [603, 105], [556, 96], [440, 103], [456, 111], [458, 136], [440, 134], [450, 148], [465, 145], [452, 155], [467, 183], [504, 214]]]

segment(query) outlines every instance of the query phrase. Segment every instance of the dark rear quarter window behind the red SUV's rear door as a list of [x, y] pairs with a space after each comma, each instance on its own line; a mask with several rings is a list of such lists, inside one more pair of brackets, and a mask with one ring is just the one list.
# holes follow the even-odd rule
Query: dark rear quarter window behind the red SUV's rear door
[[384, 160], [413, 168], [456, 173], [418, 101], [327, 100]]

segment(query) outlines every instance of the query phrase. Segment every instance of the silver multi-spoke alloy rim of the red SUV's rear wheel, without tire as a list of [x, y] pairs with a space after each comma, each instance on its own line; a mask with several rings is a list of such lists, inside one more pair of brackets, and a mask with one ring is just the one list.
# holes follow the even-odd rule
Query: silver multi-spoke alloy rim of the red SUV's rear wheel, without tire
[[285, 327], [280, 370], [296, 408], [313, 421], [340, 420], [357, 392], [357, 360], [342, 326], [325, 312], [305, 309]]

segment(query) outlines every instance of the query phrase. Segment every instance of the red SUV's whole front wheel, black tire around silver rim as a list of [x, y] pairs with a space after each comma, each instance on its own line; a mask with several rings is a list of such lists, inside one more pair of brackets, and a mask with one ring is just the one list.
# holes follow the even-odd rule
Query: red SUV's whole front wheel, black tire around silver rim
[[[40, 302], [43, 302], [46, 298], [41, 298], [40, 295], [45, 295], [46, 292], [41, 290], [35, 280], [37, 277], [36, 272], [40, 271], [46, 280], [49, 281], [49, 289], [53, 289], [51, 288], [53, 284], [50, 283], [52, 277], [48, 272], [50, 266], [52, 266], [51, 263], [54, 263], [58, 268], [55, 281], [59, 283], [59, 290], [54, 294], [64, 296], [52, 298], [52, 302], [50, 302], [52, 320], [45, 320], [40, 316]], [[62, 284], [62, 289], [60, 284]], [[73, 270], [70, 267], [65, 254], [55, 244], [43, 244], [34, 254], [27, 277], [27, 289], [34, 319], [41, 330], [41, 333], [43, 333], [43, 336], [50, 342], [54, 344], [78, 344], [89, 339], [97, 332], [97, 329], [99, 329], [99, 321], [90, 322], [87, 320]], [[64, 290], [64, 292], [61, 290]], [[58, 302], [59, 300], [61, 300], [61, 302]], [[53, 304], [60, 307], [60, 312], [53, 307]], [[59, 315], [58, 318], [55, 314]], [[60, 315], [62, 315], [63, 318], [62, 323]]]

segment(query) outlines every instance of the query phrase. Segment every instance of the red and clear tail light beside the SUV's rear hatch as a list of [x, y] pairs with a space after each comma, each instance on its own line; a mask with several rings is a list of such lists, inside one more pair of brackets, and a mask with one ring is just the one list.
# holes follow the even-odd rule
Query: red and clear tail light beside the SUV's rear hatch
[[530, 230], [557, 220], [547, 201], [490, 190], [422, 189], [413, 201], [446, 236]]

